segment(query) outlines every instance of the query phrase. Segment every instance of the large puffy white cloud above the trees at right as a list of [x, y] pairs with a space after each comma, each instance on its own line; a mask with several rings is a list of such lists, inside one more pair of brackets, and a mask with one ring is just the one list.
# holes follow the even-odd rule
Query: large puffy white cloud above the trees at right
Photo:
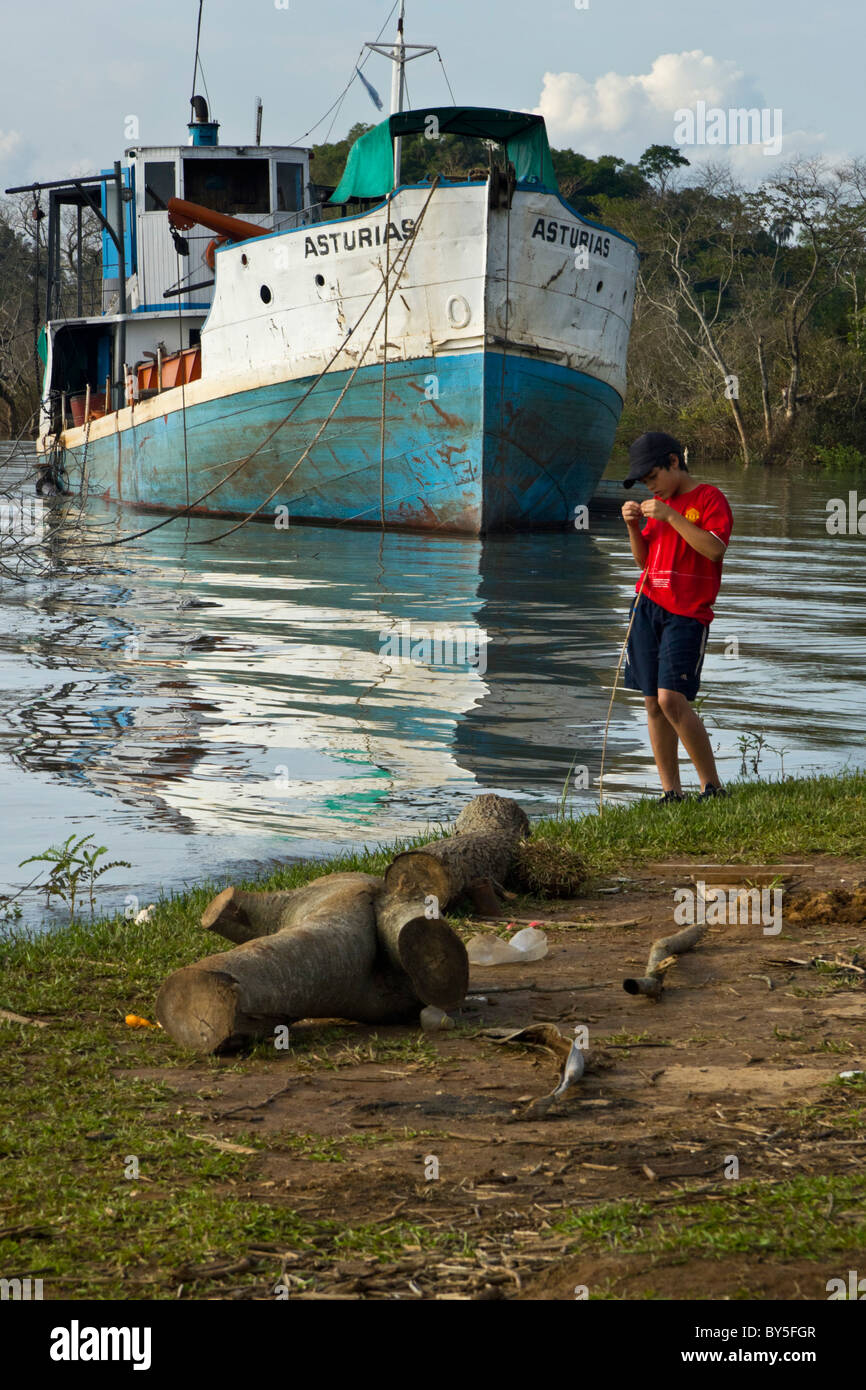
[[[778, 106], [737, 63], [692, 49], [659, 54], [649, 72], [605, 72], [592, 82], [580, 72], [545, 72], [535, 113], [544, 115], [553, 145], [571, 146], [591, 157], [619, 154], [637, 160], [649, 145], [677, 145], [676, 113], [695, 110], [699, 101], [706, 110], [716, 107], [726, 113], [738, 107], [774, 110]], [[823, 135], [787, 131], [784, 115], [783, 108], [778, 158], [823, 152]], [[746, 177], [762, 177], [777, 164], [760, 145], [684, 145], [681, 149], [692, 163], [730, 160]]]

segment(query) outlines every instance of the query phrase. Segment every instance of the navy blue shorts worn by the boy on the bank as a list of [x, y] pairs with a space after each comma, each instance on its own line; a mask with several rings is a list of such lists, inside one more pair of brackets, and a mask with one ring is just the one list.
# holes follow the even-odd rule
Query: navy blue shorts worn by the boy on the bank
[[709, 624], [669, 613], [641, 595], [626, 649], [626, 689], [657, 695], [662, 688], [694, 699], [701, 685], [708, 634]]

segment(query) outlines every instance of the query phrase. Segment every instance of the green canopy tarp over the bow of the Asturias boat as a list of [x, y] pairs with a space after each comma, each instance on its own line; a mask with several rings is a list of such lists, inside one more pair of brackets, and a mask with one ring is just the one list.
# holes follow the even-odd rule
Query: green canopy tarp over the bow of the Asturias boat
[[[436, 125], [431, 126], [431, 117]], [[517, 172], [518, 183], [535, 183], [557, 193], [548, 132], [541, 115], [527, 111], [498, 111], [487, 106], [435, 106], [421, 111], [400, 111], [361, 135], [352, 149], [331, 203], [353, 197], [385, 197], [393, 189], [393, 140], [436, 129], [439, 135], [470, 135], [498, 140]]]

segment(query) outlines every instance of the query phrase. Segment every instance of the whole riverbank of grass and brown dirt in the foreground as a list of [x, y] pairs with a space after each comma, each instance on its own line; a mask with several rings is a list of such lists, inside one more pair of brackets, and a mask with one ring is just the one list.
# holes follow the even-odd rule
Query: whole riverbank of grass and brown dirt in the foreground
[[[0, 1006], [29, 1022], [0, 1023], [4, 1272], [46, 1298], [826, 1298], [866, 1236], [866, 1086], [840, 1076], [866, 1069], [866, 774], [534, 835], [552, 865], [578, 849], [587, 891], [509, 903], [549, 954], [473, 969], [487, 1004], [448, 1033], [317, 1020], [285, 1052], [200, 1058], [128, 1027], [213, 952], [197, 922], [222, 884], [142, 926], [7, 929]], [[392, 852], [245, 885], [381, 872]], [[659, 1005], [631, 998], [623, 976], [709, 865], [744, 887], [771, 865], [781, 930], [712, 929]], [[589, 1065], [567, 1104], [520, 1119], [557, 1063], [482, 1030], [537, 1020], [585, 1023]]]

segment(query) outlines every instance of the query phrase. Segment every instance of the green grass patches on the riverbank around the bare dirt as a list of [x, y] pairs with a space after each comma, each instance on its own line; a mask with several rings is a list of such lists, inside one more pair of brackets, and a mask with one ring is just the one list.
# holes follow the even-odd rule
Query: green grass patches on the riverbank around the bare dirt
[[[603, 817], [541, 821], [534, 834], [549, 845], [552, 865], [563, 847], [575, 849], [596, 883], [642, 862], [688, 855], [770, 862], [824, 853], [866, 860], [866, 776], [742, 784], [728, 801], [612, 808]], [[295, 865], [247, 885], [289, 888], [336, 869], [379, 872], [391, 855], [382, 848]], [[210, 1087], [227, 1076], [260, 1074], [270, 1066], [279, 1079], [281, 1065], [311, 1072], [342, 1065], [324, 1056], [324, 1030], [316, 1042], [297, 1041], [284, 1063], [275, 1063], [272, 1048], [267, 1056], [260, 1049], [236, 1059], [193, 1059], [157, 1030], [125, 1026], [128, 1013], [153, 1019], [165, 974], [214, 949], [197, 920], [221, 887], [207, 884], [165, 899], [142, 926], [115, 917], [38, 937], [7, 927], [0, 938], [0, 1006], [43, 1024], [0, 1022], [0, 1270], [7, 1277], [43, 1277], [46, 1297], [172, 1297], [177, 1286], [167, 1282], [165, 1266], [186, 1268], [178, 1283], [199, 1290], [195, 1269], [214, 1254], [240, 1261], [261, 1245], [306, 1252], [313, 1264], [348, 1252], [388, 1259], [406, 1250], [450, 1255], [464, 1248], [464, 1233], [435, 1225], [400, 1219], [338, 1225], [299, 1211], [289, 1193], [252, 1201], [250, 1173], [267, 1138], [238, 1125], [231, 1144], [218, 1147], [206, 1120], [178, 1109], [171, 1074], [188, 1072], [193, 1062], [195, 1094], [204, 1111]], [[371, 1061], [424, 1066], [432, 1045], [424, 1036], [381, 1030], [364, 1047]], [[845, 1099], [853, 1102], [853, 1095], [847, 1093]], [[348, 1134], [338, 1144], [316, 1134], [291, 1138], [317, 1162], [349, 1165], [357, 1145], [386, 1147], [407, 1133]], [[133, 1156], [139, 1179], [128, 1176]], [[840, 1183], [840, 1200], [851, 1201], [851, 1179]], [[758, 1204], [751, 1208], [755, 1248], [774, 1245], [788, 1230], [788, 1200], [802, 1208], [805, 1222], [816, 1195], [823, 1200], [824, 1187], [819, 1193], [792, 1186], [763, 1204], [755, 1190], [749, 1198]], [[703, 1207], [692, 1213], [685, 1204], [677, 1220], [692, 1232], [689, 1238], [712, 1244], [716, 1237], [705, 1222], [724, 1233], [724, 1212], [730, 1207], [734, 1220], [742, 1201], [742, 1194], [726, 1197], [712, 1213]], [[598, 1216], [584, 1212], [574, 1218], [574, 1245], [589, 1240], [609, 1247], [613, 1222], [616, 1248], [656, 1248], [652, 1241], [667, 1236], [651, 1237], [642, 1215], [634, 1204], [616, 1212], [599, 1208]], [[569, 1219], [563, 1222], [560, 1234], [570, 1229]], [[828, 1238], [822, 1237], [824, 1244]]]

